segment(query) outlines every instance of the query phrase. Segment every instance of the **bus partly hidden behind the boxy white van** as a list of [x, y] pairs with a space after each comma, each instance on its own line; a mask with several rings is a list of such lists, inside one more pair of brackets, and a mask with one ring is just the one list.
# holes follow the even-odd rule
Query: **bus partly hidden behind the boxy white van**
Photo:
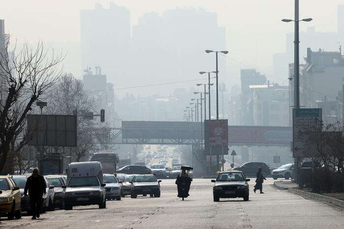
[[100, 162], [103, 167], [103, 173], [114, 174], [118, 164], [118, 154], [113, 152], [99, 152], [92, 155], [92, 162]]

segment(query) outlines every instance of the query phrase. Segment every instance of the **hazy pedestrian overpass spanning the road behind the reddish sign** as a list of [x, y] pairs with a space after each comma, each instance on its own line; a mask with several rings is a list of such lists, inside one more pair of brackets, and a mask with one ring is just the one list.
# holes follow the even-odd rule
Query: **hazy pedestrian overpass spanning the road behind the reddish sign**
[[[203, 123], [122, 121], [120, 128], [108, 128], [110, 144], [198, 145]], [[291, 127], [229, 126], [229, 146], [288, 146]]]

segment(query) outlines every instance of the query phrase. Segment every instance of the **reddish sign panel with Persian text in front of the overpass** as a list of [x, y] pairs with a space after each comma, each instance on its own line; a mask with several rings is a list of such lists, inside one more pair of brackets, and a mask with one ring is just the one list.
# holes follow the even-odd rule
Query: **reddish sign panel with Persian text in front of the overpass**
[[209, 120], [209, 145], [228, 146], [228, 120]]

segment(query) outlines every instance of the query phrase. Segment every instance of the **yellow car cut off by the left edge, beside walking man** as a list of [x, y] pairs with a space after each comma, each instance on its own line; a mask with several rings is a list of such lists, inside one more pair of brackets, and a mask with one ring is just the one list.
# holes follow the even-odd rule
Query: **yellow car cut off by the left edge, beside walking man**
[[22, 218], [20, 187], [9, 176], [0, 176], [0, 215], [9, 220]]

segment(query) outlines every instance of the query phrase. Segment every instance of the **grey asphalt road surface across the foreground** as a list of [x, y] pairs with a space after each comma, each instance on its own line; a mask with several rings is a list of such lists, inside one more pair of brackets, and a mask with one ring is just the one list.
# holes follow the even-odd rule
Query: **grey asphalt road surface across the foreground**
[[[254, 180], [254, 179], [252, 179]], [[212, 184], [194, 179], [190, 196], [176, 196], [174, 180], [163, 180], [161, 197], [138, 196], [107, 201], [106, 209], [97, 206], [74, 207], [41, 215], [39, 220], [24, 216], [2, 220], [0, 228], [49, 229], [343, 229], [344, 212], [301, 196], [272, 187], [272, 178], [263, 185], [265, 194], [213, 202]]]

